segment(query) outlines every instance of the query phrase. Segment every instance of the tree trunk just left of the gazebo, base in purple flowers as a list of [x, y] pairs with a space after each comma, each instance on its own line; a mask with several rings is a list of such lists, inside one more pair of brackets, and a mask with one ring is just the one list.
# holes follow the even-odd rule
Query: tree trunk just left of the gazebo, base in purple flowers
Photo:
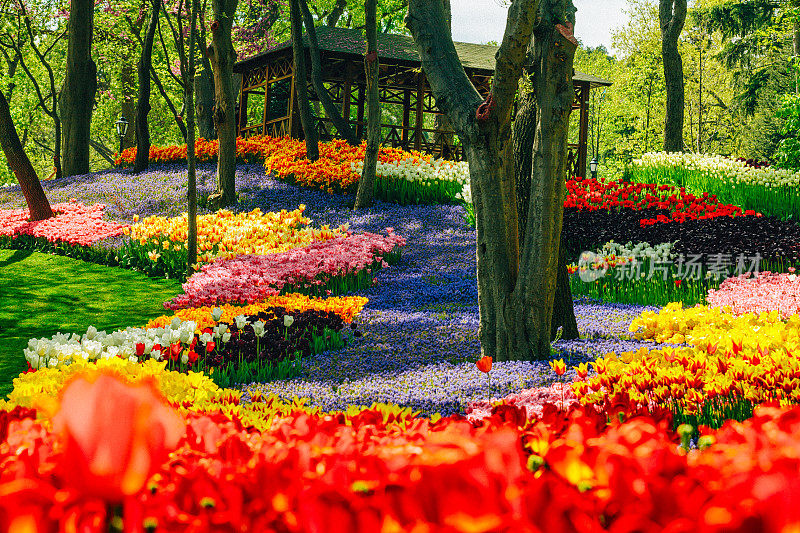
[[[231, 28], [238, 0], [212, 0], [211, 46], [208, 48], [214, 71], [214, 124], [219, 139], [217, 185], [220, 205], [236, 203], [236, 95], [233, 64], [236, 51]], [[192, 108], [193, 109], [193, 108]]]

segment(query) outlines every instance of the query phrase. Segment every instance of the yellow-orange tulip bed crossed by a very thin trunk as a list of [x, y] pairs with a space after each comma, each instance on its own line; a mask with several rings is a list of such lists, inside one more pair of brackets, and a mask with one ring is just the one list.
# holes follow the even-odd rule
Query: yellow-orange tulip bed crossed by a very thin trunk
[[[304, 205], [293, 211], [234, 214], [220, 210], [197, 217], [197, 264], [239, 255], [285, 252], [343, 235], [343, 229], [309, 227]], [[186, 271], [188, 217], [134, 217], [130, 240], [120, 250], [120, 264], [149, 275], [183, 277]]]

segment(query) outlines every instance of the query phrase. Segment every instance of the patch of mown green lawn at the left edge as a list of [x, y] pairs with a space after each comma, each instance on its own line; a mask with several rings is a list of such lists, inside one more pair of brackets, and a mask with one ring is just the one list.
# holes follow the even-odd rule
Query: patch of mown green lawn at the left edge
[[143, 326], [180, 292], [175, 280], [30, 252], [0, 250], [0, 398], [26, 368], [28, 339]]

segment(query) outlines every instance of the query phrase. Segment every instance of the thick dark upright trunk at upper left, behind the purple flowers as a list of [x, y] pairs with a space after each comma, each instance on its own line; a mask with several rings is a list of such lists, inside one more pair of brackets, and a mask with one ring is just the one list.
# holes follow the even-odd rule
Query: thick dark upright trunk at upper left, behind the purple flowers
[[59, 108], [63, 126], [64, 175], [89, 172], [89, 136], [97, 92], [97, 66], [92, 61], [94, 2], [70, 0], [67, 69]]

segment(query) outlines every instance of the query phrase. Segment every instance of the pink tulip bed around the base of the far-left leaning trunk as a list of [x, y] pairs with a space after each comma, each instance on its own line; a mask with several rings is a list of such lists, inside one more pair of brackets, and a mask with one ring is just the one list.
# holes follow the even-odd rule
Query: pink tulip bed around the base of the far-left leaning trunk
[[35, 222], [30, 220], [27, 209], [0, 210], [0, 245], [15, 248], [89, 246], [122, 235], [126, 226], [103, 220], [105, 208], [104, 204], [84, 205], [71, 200], [53, 205], [54, 217]]

